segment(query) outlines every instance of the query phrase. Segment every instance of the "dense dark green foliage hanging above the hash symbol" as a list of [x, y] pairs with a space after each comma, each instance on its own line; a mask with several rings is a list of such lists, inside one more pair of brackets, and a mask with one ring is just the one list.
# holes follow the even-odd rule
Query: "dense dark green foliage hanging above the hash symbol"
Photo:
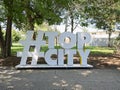
[[[62, 21], [61, 11], [71, 0], [22, 0], [15, 9], [14, 22], [19, 28], [34, 29], [43, 22], [58, 24]], [[20, 10], [19, 10], [19, 9]]]

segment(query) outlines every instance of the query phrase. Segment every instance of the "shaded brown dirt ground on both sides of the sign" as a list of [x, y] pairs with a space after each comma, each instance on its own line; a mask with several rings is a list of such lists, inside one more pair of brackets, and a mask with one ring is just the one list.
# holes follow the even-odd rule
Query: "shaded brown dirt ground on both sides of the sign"
[[[45, 63], [44, 60], [41, 60]], [[20, 63], [20, 57], [11, 56], [5, 59], [0, 58], [0, 66], [16, 66]], [[79, 63], [79, 58], [74, 57], [74, 63]], [[88, 58], [88, 63], [93, 65], [94, 68], [110, 68], [110, 69], [120, 69], [120, 55], [110, 54], [110, 55], [90, 55]]]

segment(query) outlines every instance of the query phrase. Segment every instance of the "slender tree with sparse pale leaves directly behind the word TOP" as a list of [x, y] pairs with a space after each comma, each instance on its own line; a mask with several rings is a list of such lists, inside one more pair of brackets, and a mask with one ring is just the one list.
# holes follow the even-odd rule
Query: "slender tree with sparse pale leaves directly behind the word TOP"
[[72, 0], [69, 2], [67, 9], [64, 11], [63, 22], [65, 24], [65, 31], [67, 27], [71, 26], [73, 32], [78, 25], [87, 26], [84, 12], [85, 0]]

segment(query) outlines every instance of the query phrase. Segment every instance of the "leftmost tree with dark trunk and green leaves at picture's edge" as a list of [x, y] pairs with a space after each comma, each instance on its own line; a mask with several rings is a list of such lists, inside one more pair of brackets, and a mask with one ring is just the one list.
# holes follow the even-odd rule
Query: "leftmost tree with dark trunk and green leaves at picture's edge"
[[[4, 28], [6, 29], [5, 32], [5, 39], [2, 37], [0, 40], [1, 48], [2, 48], [2, 56], [8, 57], [11, 56], [11, 44], [12, 44], [12, 25], [13, 20], [17, 19], [15, 17], [16, 13], [18, 13], [18, 9], [20, 8], [18, 5], [18, 0], [1, 0], [0, 1], [0, 26], [2, 33], [2, 25], [4, 23]], [[17, 9], [16, 9], [17, 8]]]

